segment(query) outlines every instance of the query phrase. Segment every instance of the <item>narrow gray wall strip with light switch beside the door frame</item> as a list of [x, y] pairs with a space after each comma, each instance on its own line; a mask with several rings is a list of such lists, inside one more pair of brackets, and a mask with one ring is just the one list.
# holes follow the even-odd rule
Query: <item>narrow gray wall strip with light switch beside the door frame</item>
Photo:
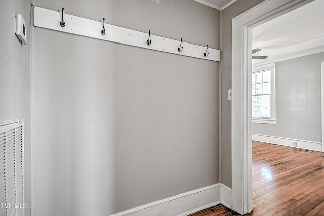
[[231, 174], [231, 101], [227, 100], [227, 90], [231, 89], [232, 64], [232, 18], [249, 10], [263, 0], [238, 0], [221, 12], [221, 132], [220, 132], [220, 177], [228, 187], [232, 185]]

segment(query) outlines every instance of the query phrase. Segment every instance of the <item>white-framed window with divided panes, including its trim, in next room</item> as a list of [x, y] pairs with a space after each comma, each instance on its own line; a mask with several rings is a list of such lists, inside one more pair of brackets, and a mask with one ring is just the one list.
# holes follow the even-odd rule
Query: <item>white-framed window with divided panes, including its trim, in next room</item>
[[252, 71], [252, 122], [275, 124], [275, 65], [254, 67]]

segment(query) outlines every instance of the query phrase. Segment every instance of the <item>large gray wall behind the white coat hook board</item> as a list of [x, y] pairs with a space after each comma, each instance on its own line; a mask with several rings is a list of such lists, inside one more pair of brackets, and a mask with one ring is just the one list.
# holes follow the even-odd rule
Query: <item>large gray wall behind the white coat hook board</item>
[[[35, 1], [219, 49], [194, 1]], [[34, 28], [35, 215], [109, 215], [219, 182], [219, 63]]]

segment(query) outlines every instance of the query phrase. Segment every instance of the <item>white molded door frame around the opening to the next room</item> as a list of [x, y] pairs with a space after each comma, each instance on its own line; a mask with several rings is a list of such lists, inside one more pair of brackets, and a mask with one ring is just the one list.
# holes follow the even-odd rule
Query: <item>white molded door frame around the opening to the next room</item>
[[[252, 28], [313, 0], [265, 0], [232, 19], [232, 209], [250, 213], [252, 203]], [[323, 127], [322, 127], [323, 128]]]

